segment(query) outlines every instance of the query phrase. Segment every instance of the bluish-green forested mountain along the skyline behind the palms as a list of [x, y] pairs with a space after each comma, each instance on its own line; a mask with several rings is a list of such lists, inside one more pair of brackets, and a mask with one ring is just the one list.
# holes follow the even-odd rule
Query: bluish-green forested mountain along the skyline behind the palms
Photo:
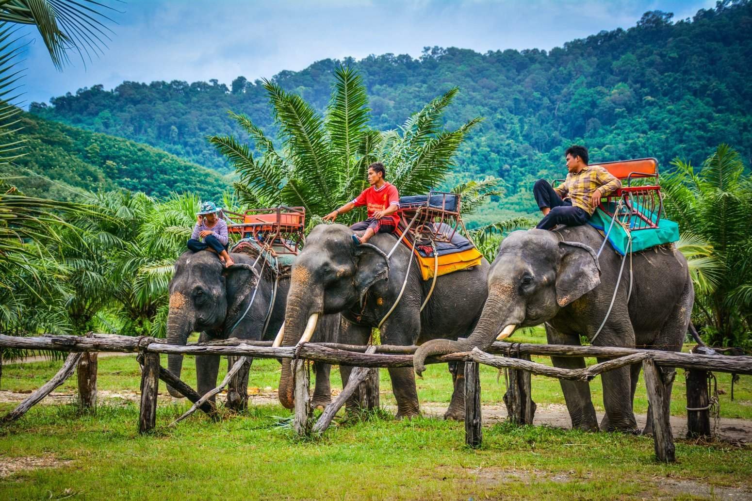
[[[534, 209], [526, 193], [532, 180], [560, 174], [563, 147], [572, 142], [586, 144], [591, 159], [656, 156], [663, 169], [676, 156], [698, 164], [721, 142], [738, 150], [747, 166], [752, 158], [750, 0], [724, 0], [676, 22], [672, 14], [649, 12], [632, 28], [549, 52], [434, 47], [419, 59], [326, 59], [272, 80], [323, 109], [341, 63], [362, 75], [377, 129], [395, 128], [423, 103], [459, 86], [447, 126], [478, 115], [486, 120], [463, 144], [452, 181], [502, 177], [504, 205], [521, 211]], [[112, 91], [96, 85], [51, 105], [33, 103], [30, 111], [224, 170], [205, 136], [245, 137], [226, 111], [247, 114], [274, 132], [260, 83], [238, 77], [229, 88], [217, 80], [124, 82]]]

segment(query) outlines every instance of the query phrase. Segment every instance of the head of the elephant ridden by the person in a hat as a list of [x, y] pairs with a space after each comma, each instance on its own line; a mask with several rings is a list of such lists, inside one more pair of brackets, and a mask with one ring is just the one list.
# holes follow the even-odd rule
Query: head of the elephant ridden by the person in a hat
[[[237, 256], [233, 255], [236, 262]], [[228, 309], [237, 307], [229, 305], [229, 299], [242, 299], [242, 291], [255, 283], [253, 276], [257, 278], [250, 265], [242, 263], [242, 258], [239, 257], [241, 263], [230, 268], [224, 268], [217, 255], [207, 250], [196, 253], [189, 250], [177, 259], [168, 286], [168, 344], [185, 345], [191, 332], [214, 333], [216, 337], [225, 333]], [[170, 372], [180, 377], [182, 366], [183, 355], [168, 355]], [[170, 386], [168, 391], [172, 396], [182, 396]]]

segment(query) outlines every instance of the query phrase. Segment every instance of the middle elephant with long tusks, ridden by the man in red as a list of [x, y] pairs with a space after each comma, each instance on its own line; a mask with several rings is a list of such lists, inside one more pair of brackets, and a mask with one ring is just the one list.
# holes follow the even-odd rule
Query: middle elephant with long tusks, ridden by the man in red
[[[368, 244], [359, 245], [353, 244], [353, 235], [352, 229], [341, 224], [320, 224], [311, 230], [293, 263], [284, 346], [296, 345], [304, 326], [315, 324], [318, 315], [335, 313], [344, 318], [340, 339], [365, 345], [371, 329], [379, 326], [395, 304], [405, 281], [402, 299], [381, 326], [382, 343], [414, 345], [436, 336], [457, 339], [472, 332], [487, 295], [484, 284], [490, 265], [486, 260], [472, 269], [438, 277], [426, 308], [420, 311], [432, 281], [423, 281], [414, 265], [408, 274], [408, 264], [414, 259], [410, 250], [399, 244], [387, 260], [386, 253], [397, 243], [395, 235], [378, 233]], [[390, 368], [389, 372], [397, 417], [420, 414], [412, 369]], [[464, 419], [464, 375], [456, 366], [450, 372], [454, 391], [444, 417]], [[344, 368], [344, 384], [349, 373]], [[293, 390], [290, 361], [284, 360], [279, 398], [287, 408], [293, 408]]]

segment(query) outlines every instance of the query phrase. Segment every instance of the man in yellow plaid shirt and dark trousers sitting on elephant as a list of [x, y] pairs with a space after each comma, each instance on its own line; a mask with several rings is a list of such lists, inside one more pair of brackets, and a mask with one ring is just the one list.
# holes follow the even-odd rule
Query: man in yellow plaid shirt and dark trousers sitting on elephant
[[567, 148], [566, 181], [556, 188], [539, 179], [532, 188], [535, 202], [544, 217], [536, 228], [551, 229], [557, 224], [580, 226], [587, 223], [602, 197], [621, 187], [621, 181], [600, 165], [587, 165], [587, 148], [575, 144]]

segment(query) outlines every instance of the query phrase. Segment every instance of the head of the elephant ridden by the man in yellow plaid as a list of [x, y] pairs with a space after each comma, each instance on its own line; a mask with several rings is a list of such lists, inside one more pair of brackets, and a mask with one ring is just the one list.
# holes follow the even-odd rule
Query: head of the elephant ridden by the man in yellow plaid
[[556, 233], [544, 229], [512, 232], [491, 265], [488, 298], [472, 335], [424, 343], [415, 353], [415, 372], [423, 372], [426, 357], [484, 350], [517, 327], [547, 322], [598, 284], [598, 258], [588, 245], [559, 241]]

